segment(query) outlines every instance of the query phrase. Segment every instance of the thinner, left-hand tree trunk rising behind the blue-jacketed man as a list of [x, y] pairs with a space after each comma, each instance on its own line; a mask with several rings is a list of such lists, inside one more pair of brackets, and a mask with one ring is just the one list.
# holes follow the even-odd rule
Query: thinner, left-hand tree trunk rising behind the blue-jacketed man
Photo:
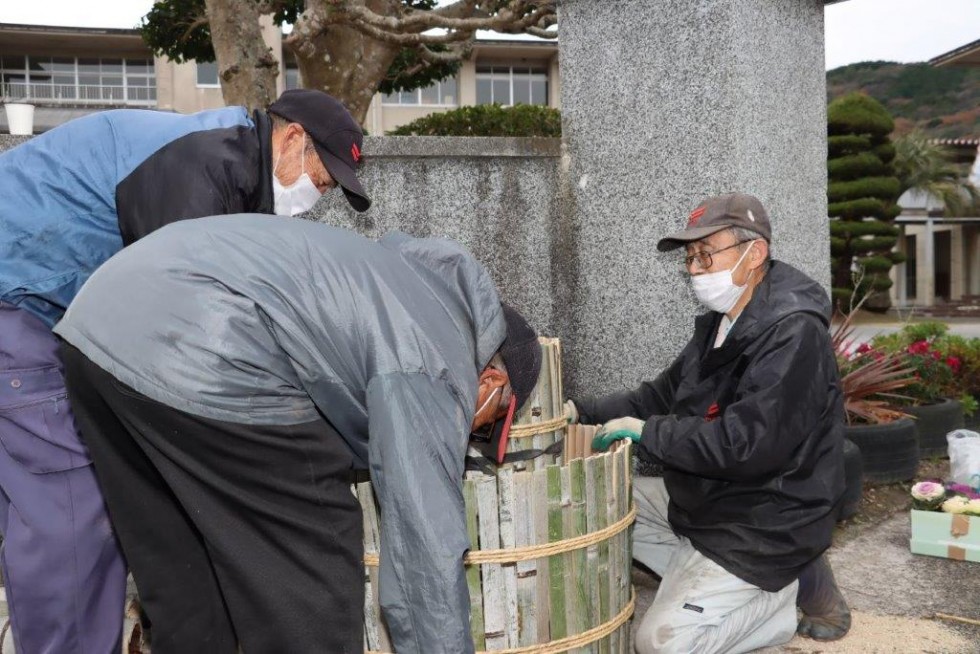
[[277, 97], [279, 61], [262, 39], [254, 0], [205, 0], [221, 93], [228, 105], [264, 109]]

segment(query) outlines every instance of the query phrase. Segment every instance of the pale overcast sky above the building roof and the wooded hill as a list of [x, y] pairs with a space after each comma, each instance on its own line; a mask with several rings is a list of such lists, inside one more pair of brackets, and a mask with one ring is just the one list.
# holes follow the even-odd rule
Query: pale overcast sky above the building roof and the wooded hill
[[[152, 0], [0, 0], [0, 23], [134, 27], [152, 5]], [[825, 13], [828, 68], [877, 59], [927, 61], [980, 39], [980, 0], [848, 0]]]

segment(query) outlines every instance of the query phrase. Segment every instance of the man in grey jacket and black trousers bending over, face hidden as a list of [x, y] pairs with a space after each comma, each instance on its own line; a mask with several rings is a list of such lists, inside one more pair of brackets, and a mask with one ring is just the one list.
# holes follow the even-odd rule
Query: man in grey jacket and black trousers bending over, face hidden
[[367, 466], [395, 649], [473, 651], [467, 442], [541, 354], [460, 246], [183, 221], [103, 265], [55, 331], [154, 652], [362, 652]]

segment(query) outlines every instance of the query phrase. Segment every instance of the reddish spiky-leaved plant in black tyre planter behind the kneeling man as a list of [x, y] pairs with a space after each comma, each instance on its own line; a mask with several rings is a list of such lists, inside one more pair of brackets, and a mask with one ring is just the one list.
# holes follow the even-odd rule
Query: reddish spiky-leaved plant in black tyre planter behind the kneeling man
[[864, 477], [891, 483], [915, 477], [919, 445], [915, 423], [896, 406], [894, 394], [912, 382], [904, 357], [867, 344], [853, 348], [852, 311], [832, 334], [841, 374], [844, 435], [861, 451]]

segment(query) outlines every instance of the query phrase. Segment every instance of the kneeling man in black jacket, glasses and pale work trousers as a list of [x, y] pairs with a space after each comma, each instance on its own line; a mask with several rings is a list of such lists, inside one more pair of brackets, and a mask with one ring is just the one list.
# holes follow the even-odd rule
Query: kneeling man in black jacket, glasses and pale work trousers
[[[662, 577], [637, 652], [747, 652], [794, 631], [842, 637], [850, 613], [823, 551], [843, 493], [843, 407], [824, 290], [769, 258], [756, 198], [695, 209], [686, 247], [694, 336], [634, 391], [578, 400], [602, 433], [635, 433], [663, 477], [639, 477], [634, 558]], [[803, 610], [797, 624], [796, 607]]]

